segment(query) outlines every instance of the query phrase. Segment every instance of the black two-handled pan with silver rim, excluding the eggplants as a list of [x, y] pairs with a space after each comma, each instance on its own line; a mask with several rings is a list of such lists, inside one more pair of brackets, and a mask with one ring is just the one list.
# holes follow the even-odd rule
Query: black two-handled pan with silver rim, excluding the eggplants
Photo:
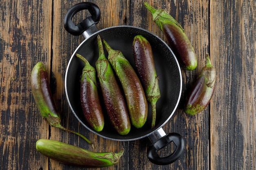
[[[82, 10], [88, 10], [88, 18], [74, 24], [73, 16]], [[67, 102], [79, 122], [91, 132], [100, 137], [116, 141], [132, 141], [148, 137], [152, 145], [148, 147], [148, 159], [158, 165], [167, 165], [176, 161], [183, 152], [184, 139], [177, 133], [166, 133], [162, 129], [179, 104], [182, 92], [182, 76], [180, 66], [173, 51], [159, 37], [145, 29], [135, 26], [112, 26], [98, 30], [96, 24], [100, 20], [100, 10], [96, 4], [91, 2], [81, 2], [70, 8], [64, 18], [64, 27], [72, 35], [83, 35], [85, 40], [77, 47], [72, 54], [65, 73], [65, 93]], [[135, 35], [143, 35], [151, 44], [157, 75], [159, 76], [160, 99], [157, 101], [157, 117], [155, 128], [151, 128], [151, 109], [148, 108], [148, 118], [142, 128], [131, 127], [128, 135], [119, 135], [112, 128], [108, 117], [105, 116], [105, 125], [101, 132], [94, 131], [86, 122], [80, 104], [80, 76], [83, 69], [83, 62], [75, 57], [79, 53], [85, 57], [92, 66], [99, 57], [97, 35], [106, 40], [108, 44], [116, 50], [120, 50], [130, 64], [134, 67], [132, 55], [132, 41]], [[105, 51], [107, 56], [107, 52]], [[100, 90], [99, 90], [100, 91]], [[102, 102], [102, 101], [101, 101]], [[102, 106], [103, 102], [102, 102]], [[107, 114], [105, 114], [107, 115]], [[168, 144], [174, 143], [176, 149], [167, 157], [159, 157], [157, 151]]]

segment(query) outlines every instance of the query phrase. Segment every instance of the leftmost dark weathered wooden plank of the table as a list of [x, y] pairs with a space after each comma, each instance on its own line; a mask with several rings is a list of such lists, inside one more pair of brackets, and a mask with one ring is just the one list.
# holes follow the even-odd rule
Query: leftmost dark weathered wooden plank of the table
[[46, 169], [35, 143], [48, 137], [48, 125], [34, 104], [29, 77], [38, 61], [50, 71], [52, 3], [4, 0], [0, 7], [0, 169]]

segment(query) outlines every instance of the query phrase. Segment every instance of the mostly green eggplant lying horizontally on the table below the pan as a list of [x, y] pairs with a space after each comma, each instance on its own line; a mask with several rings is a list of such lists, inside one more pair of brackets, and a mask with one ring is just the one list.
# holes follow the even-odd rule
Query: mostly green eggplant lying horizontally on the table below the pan
[[39, 139], [36, 141], [36, 150], [58, 162], [86, 168], [112, 166], [117, 163], [124, 154], [124, 150], [121, 150], [119, 153], [92, 152], [50, 139]]

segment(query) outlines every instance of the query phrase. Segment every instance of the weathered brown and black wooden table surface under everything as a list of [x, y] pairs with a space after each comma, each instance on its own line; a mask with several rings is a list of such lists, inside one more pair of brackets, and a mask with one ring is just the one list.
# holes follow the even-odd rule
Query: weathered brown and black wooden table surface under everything
[[[256, 2], [232, 0], [153, 0], [184, 28], [198, 56], [194, 71], [182, 68], [180, 106], [163, 127], [185, 139], [175, 163], [157, 166], [146, 157], [147, 138], [120, 142], [98, 137], [79, 124], [64, 90], [65, 69], [82, 36], [63, 28], [65, 13], [80, 0], [1, 0], [0, 2], [0, 170], [82, 170], [36, 151], [38, 139], [54, 139], [92, 149], [76, 135], [43, 121], [31, 94], [29, 77], [37, 62], [47, 68], [62, 125], [88, 137], [99, 152], [124, 148], [119, 163], [105, 170], [255, 170], [256, 169]], [[91, 0], [101, 9], [99, 29], [133, 25], [166, 38], [139, 0]], [[86, 12], [75, 16], [79, 21]], [[184, 98], [210, 54], [216, 90], [197, 115], [182, 110]], [[164, 149], [168, 151], [168, 147]]]

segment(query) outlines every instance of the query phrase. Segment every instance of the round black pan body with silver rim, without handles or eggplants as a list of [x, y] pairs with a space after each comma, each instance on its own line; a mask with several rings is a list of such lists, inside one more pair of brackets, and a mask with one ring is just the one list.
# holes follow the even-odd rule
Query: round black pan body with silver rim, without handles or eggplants
[[[132, 41], [136, 35], [143, 35], [151, 44], [155, 68], [159, 76], [159, 89], [161, 93], [160, 99], [157, 101], [157, 117], [155, 128], [151, 129], [151, 108], [148, 104], [148, 118], [146, 124], [142, 128], [131, 127], [128, 135], [119, 135], [112, 128], [108, 116], [105, 112], [105, 126], [101, 132], [96, 132], [86, 122], [81, 104], [80, 104], [80, 76], [83, 69], [83, 63], [78, 58], [74, 57], [75, 53], [79, 53], [85, 57], [95, 68], [95, 62], [98, 59], [99, 52], [97, 46], [97, 35], [106, 40], [112, 49], [120, 50], [130, 64], [134, 67], [134, 59], [132, 55]], [[108, 53], [105, 51], [106, 57]], [[135, 68], [135, 67], [134, 67]], [[97, 135], [118, 141], [130, 141], [141, 139], [152, 134], [157, 129], [161, 128], [171, 118], [180, 101], [182, 90], [182, 78], [180, 66], [168, 45], [158, 38], [156, 35], [133, 26], [115, 26], [107, 29], [102, 29], [94, 33], [90, 38], [84, 40], [79, 47], [74, 51], [70, 62], [67, 66], [65, 75], [65, 91], [67, 101], [76, 118], [88, 130]], [[99, 92], [100, 88], [99, 88]], [[103, 101], [102, 106], [104, 109]]]

